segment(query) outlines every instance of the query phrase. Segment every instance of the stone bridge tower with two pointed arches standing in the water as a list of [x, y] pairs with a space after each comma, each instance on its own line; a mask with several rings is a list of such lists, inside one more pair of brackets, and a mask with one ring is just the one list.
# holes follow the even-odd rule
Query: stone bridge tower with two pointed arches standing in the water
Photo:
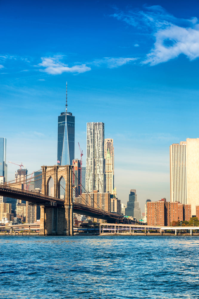
[[[60, 198], [61, 179], [65, 180], [64, 207], [41, 206], [40, 234], [41, 235], [73, 235], [73, 204], [72, 204], [72, 168], [73, 166], [41, 166], [42, 189], [45, 195], [52, 194]], [[54, 185], [49, 188], [50, 179]], [[50, 191], [50, 192], [49, 192]]]

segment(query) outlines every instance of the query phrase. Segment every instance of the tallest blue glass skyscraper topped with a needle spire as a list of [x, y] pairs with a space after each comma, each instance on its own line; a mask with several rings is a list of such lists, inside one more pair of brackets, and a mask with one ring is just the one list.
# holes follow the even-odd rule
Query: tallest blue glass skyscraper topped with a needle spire
[[75, 156], [75, 116], [67, 111], [67, 83], [66, 83], [66, 111], [58, 116], [57, 162], [59, 165], [72, 165]]

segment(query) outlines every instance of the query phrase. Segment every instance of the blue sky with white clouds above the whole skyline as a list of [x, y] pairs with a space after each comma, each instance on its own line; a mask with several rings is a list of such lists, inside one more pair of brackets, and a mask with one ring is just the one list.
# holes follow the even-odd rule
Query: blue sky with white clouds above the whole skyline
[[[28, 173], [57, 159], [57, 119], [114, 139], [115, 185], [170, 200], [169, 145], [198, 136], [198, 1], [1, 1], [1, 137]], [[19, 163], [19, 164], [20, 164]], [[8, 179], [17, 169], [8, 163]]]

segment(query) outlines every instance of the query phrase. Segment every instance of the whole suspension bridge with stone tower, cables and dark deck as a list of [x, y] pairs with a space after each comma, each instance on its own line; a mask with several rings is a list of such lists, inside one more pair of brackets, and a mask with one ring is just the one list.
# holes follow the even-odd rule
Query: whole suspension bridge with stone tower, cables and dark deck
[[[0, 184], [0, 196], [21, 199], [32, 205], [40, 205], [41, 235], [73, 235], [73, 213], [105, 219], [109, 223], [123, 220], [124, 217], [121, 214], [105, 211], [93, 200], [90, 203], [86, 202], [81, 194], [78, 194], [81, 203], [75, 201], [72, 196], [73, 166], [42, 166], [41, 170], [42, 175], [34, 177], [34, 181], [42, 180], [41, 193], [25, 190], [24, 186], [30, 184], [32, 180], [30, 175], [23, 177], [20, 181]], [[53, 187], [50, 187], [50, 181], [53, 181]], [[53, 189], [54, 196], [49, 195], [50, 189]], [[65, 194], [64, 199], [60, 198], [62, 189]]]

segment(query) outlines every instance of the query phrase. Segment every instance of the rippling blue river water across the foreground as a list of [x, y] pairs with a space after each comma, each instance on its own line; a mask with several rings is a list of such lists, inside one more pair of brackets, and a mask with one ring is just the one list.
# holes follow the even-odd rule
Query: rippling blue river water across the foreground
[[1, 236], [0, 298], [199, 298], [199, 237]]

